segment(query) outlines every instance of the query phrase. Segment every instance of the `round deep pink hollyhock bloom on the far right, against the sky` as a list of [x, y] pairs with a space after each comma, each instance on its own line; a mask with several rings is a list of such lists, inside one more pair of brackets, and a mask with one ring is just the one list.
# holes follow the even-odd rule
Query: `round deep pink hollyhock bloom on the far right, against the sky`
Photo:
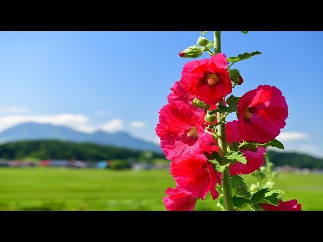
[[241, 97], [238, 114], [241, 137], [262, 144], [275, 139], [285, 127], [287, 103], [278, 88], [258, 86]]

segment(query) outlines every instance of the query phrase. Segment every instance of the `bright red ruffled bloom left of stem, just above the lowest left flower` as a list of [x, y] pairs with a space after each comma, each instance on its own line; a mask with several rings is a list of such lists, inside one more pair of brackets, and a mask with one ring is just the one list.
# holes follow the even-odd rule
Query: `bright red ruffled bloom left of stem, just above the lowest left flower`
[[219, 196], [215, 186], [217, 181], [221, 184], [220, 175], [203, 154], [190, 154], [174, 159], [171, 174], [177, 187], [191, 192], [195, 197], [205, 199], [209, 191], [213, 199]]

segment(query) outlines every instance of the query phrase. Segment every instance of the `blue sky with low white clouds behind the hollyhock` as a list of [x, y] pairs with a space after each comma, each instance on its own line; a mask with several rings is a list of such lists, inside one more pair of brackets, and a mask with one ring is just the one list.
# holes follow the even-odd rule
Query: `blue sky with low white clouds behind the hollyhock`
[[[128, 131], [156, 142], [158, 111], [180, 79], [179, 51], [195, 32], [0, 32], [0, 132], [24, 122], [83, 132]], [[205, 37], [212, 39], [212, 33]], [[323, 157], [323, 32], [222, 32], [222, 52], [261, 51], [237, 63], [241, 96], [259, 85], [282, 90], [286, 150]], [[207, 58], [204, 53], [199, 58]]]

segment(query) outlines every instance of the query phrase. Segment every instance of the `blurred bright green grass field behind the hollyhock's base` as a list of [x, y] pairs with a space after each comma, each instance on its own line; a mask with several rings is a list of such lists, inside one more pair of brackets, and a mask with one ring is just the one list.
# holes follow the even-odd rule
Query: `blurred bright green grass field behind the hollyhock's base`
[[[323, 210], [323, 175], [279, 173], [275, 183], [284, 201]], [[165, 210], [161, 197], [174, 185], [167, 170], [0, 168], [0, 210]], [[196, 210], [210, 209], [217, 209], [212, 200], [198, 201]]]

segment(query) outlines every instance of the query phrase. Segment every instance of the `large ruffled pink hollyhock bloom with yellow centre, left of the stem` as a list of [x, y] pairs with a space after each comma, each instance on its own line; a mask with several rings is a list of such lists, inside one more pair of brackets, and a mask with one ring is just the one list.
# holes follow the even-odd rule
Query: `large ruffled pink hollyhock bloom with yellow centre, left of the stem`
[[173, 160], [186, 154], [211, 153], [218, 147], [211, 135], [204, 132], [203, 121], [192, 109], [180, 102], [171, 102], [159, 111], [156, 134], [166, 158]]

